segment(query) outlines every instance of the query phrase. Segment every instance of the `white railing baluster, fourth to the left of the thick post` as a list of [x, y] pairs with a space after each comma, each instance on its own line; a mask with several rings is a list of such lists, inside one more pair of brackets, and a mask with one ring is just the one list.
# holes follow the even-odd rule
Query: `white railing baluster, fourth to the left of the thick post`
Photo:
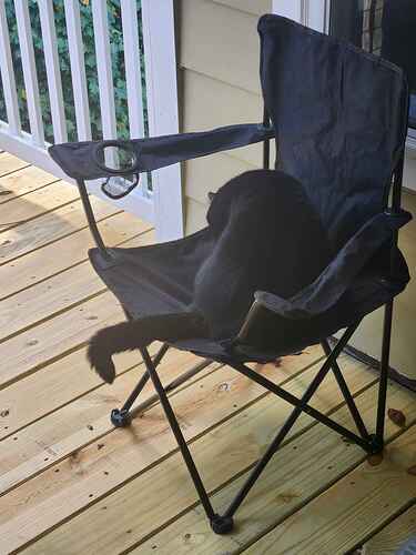
[[57, 143], [67, 142], [67, 122], [59, 67], [57, 31], [53, 17], [53, 0], [38, 0], [42, 28], [44, 62], [47, 65], [49, 100], [51, 104], [53, 137]]

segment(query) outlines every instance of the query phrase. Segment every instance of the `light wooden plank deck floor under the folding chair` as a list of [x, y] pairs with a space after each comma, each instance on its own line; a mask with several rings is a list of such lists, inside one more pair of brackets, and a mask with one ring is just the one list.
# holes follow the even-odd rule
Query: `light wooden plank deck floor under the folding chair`
[[[0, 553], [32, 554], [343, 554], [395, 553], [416, 534], [416, 395], [389, 384], [383, 461], [300, 420], [242, 505], [236, 529], [209, 528], [159, 404], [130, 428], [113, 430], [141, 371], [135, 353], [118, 359], [103, 385], [85, 362], [95, 330], [123, 319], [88, 260], [91, 239], [74, 188], [0, 154]], [[152, 230], [94, 201], [110, 244], [140, 245]], [[258, 367], [302, 394], [318, 367], [318, 347]], [[196, 357], [171, 351], [164, 383]], [[377, 374], [344, 356], [342, 365], [373, 427]], [[152, 394], [146, 387], [144, 395]], [[290, 406], [219, 364], [172, 394], [219, 512], [286, 417]], [[328, 376], [314, 406], [349, 422]]]

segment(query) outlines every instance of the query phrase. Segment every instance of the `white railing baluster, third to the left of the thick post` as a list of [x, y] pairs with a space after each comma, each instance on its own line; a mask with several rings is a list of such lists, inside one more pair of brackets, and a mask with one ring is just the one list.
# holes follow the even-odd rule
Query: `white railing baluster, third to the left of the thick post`
[[80, 6], [78, 0], [64, 0], [64, 8], [73, 99], [75, 103], [77, 134], [79, 141], [89, 141], [91, 139], [91, 123], [88, 103], [84, 50], [81, 34]]

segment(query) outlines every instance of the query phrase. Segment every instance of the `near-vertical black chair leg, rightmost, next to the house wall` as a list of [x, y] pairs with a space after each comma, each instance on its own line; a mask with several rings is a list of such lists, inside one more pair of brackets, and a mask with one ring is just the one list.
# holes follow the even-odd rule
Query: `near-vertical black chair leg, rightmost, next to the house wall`
[[392, 320], [393, 320], [393, 300], [386, 304], [384, 312], [382, 360], [379, 364], [377, 423], [376, 423], [376, 434], [374, 438], [378, 452], [383, 451], [384, 447], [384, 424], [386, 414], [388, 362], [390, 355], [390, 341], [392, 341]]

